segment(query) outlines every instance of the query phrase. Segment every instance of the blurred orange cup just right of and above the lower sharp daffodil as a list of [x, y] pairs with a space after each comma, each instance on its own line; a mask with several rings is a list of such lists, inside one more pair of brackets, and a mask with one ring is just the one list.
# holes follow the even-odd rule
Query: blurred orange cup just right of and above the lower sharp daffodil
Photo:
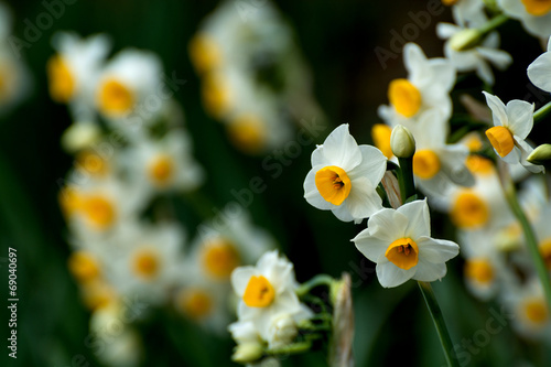
[[465, 191], [455, 198], [450, 216], [460, 228], [475, 228], [488, 222], [489, 211], [478, 195]]

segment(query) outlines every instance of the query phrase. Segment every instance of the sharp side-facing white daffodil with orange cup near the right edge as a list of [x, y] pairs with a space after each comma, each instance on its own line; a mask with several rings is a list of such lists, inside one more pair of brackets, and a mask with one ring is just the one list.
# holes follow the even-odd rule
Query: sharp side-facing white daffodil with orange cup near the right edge
[[543, 166], [526, 160], [533, 151], [533, 148], [525, 141], [533, 127], [533, 104], [515, 99], [506, 107], [498, 97], [483, 93], [494, 119], [494, 127], [486, 130], [486, 137], [496, 153], [504, 162], [521, 163], [533, 173], [543, 172]]

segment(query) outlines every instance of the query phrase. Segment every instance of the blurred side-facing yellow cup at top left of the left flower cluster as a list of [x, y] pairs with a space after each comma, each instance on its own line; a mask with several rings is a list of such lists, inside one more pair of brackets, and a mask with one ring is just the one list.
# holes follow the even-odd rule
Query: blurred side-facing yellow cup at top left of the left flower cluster
[[69, 101], [75, 93], [75, 77], [63, 57], [52, 56], [47, 62], [46, 72], [52, 99], [61, 104]]

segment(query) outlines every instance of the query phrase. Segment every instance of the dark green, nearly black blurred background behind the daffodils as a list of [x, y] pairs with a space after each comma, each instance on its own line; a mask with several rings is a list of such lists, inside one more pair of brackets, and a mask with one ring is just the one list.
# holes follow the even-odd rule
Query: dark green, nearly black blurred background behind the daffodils
[[[277, 8], [292, 26], [311, 69], [314, 97], [325, 115], [302, 118], [328, 121], [315, 143], [303, 147], [278, 179], [262, 169], [262, 159], [268, 154], [250, 156], [236, 150], [227, 141], [223, 126], [205, 112], [201, 102], [201, 80], [190, 61], [188, 43], [217, 3], [210, 0], [77, 0], [66, 3], [63, 15], [43, 30], [37, 41], [22, 48], [32, 76], [32, 91], [23, 102], [0, 117], [0, 266], [2, 279], [8, 279], [7, 249], [17, 248], [20, 299], [18, 359], [7, 358], [3, 348], [1, 365], [101, 366], [86, 343], [89, 311], [67, 270], [68, 229], [57, 203], [58, 191], [74, 160], [60, 144], [63, 131], [71, 125], [71, 116], [66, 106], [50, 98], [45, 73], [46, 62], [54, 54], [51, 37], [60, 30], [82, 35], [107, 33], [112, 39], [114, 52], [128, 46], [150, 50], [161, 57], [166, 74], [174, 72], [186, 80], [175, 99], [185, 111], [186, 127], [194, 141], [193, 154], [206, 171], [203, 194], [215, 207], [222, 208], [235, 199], [231, 190], [247, 187], [251, 177], [262, 177], [267, 190], [257, 195], [249, 207], [253, 223], [281, 244], [282, 251], [295, 265], [298, 280], [302, 282], [317, 273], [335, 278], [343, 271], [352, 274], [356, 312], [354, 350], [358, 366], [443, 365], [436, 334], [417, 285], [408, 282], [383, 290], [377, 282], [374, 265], [363, 259], [349, 242], [365, 224], [342, 223], [332, 213], [317, 211], [303, 199], [311, 152], [334, 127], [350, 123], [350, 132], [358, 143], [371, 143], [370, 127], [380, 122], [377, 107], [388, 101], [388, 83], [406, 75], [401, 54], [391, 48], [392, 44], [401, 46], [402, 41], [396, 34], [402, 34], [403, 26], [413, 22], [412, 13], [426, 11], [428, 3], [278, 1]], [[12, 33], [21, 39], [29, 23], [35, 23], [46, 11], [43, 1], [8, 1], [7, 4], [14, 15]], [[434, 32], [440, 21], [451, 21], [447, 8], [431, 17], [426, 29], [418, 28], [419, 35], [411, 40], [420, 44], [429, 57], [442, 56], [443, 42]], [[541, 104], [541, 96], [530, 89], [525, 73], [527, 65], [541, 53], [540, 45], [526, 36], [515, 22], [503, 32], [503, 48], [515, 55], [515, 63], [507, 77], [496, 74], [496, 94], [503, 100], [523, 98]], [[385, 65], [378, 60], [376, 47], [392, 54]], [[519, 50], [522, 52], [516, 52]], [[475, 77], [465, 77], [458, 88], [476, 90], [479, 83]], [[541, 130], [536, 137], [549, 132], [549, 129], [538, 129]], [[185, 220], [188, 236], [193, 237], [202, 219], [184, 206], [179, 217]], [[449, 220], [435, 215], [433, 237], [453, 239], [452, 236]], [[490, 317], [490, 310], [500, 310], [498, 303], [478, 302], [466, 292], [462, 261], [460, 258], [451, 261], [449, 276], [434, 283], [452, 338], [457, 343], [473, 338]], [[6, 293], [2, 291], [2, 294]], [[2, 303], [7, 303], [6, 296]], [[2, 307], [2, 324], [8, 320], [6, 309]], [[229, 359], [234, 346], [229, 334], [213, 336], [183, 319], [170, 317], [160, 312], [139, 325], [144, 341], [143, 366], [235, 365]], [[469, 364], [520, 366], [530, 360], [532, 365], [543, 366], [545, 360], [551, 360], [549, 355], [550, 350], [538, 344], [516, 342], [506, 325], [503, 332], [491, 335], [490, 342], [476, 347], [476, 353], [469, 353]], [[324, 366], [324, 358], [322, 353], [313, 353], [290, 357], [283, 365]]]

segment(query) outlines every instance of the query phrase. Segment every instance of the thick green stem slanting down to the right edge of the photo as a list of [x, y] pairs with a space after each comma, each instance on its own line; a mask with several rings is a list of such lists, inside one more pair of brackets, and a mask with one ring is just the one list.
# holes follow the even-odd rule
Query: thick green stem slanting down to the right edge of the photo
[[551, 311], [551, 282], [549, 280], [549, 273], [545, 267], [545, 262], [543, 261], [543, 258], [541, 257], [539, 250], [538, 240], [533, 233], [533, 228], [530, 225], [530, 222], [528, 220], [528, 217], [526, 216], [525, 212], [522, 211], [522, 207], [520, 206], [517, 199], [515, 185], [510, 180], [510, 177], [506, 184], [507, 186], [506, 187], [504, 186], [505, 196], [507, 198], [507, 202], [509, 203], [509, 207], [511, 208], [512, 213], [520, 223], [520, 226], [522, 227], [528, 251], [532, 257], [533, 265], [536, 266], [536, 272], [540, 278], [541, 285], [543, 288], [543, 293], [545, 294], [545, 300], [548, 302], [548, 309]]

